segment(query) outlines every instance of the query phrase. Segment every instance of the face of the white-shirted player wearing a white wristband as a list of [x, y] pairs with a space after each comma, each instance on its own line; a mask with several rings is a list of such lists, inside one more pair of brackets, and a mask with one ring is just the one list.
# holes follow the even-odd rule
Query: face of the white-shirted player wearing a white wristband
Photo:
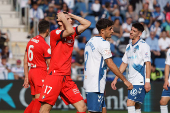
[[131, 28], [131, 31], [130, 31], [130, 39], [134, 40], [136, 39], [137, 37], [140, 37], [141, 36], [141, 32], [138, 31], [138, 29], [132, 27]]

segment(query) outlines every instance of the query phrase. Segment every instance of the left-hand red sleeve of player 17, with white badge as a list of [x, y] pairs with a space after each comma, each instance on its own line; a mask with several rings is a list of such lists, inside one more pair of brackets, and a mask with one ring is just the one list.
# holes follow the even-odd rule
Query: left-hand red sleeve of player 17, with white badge
[[60, 29], [53, 30], [50, 33], [50, 38], [55, 41], [61, 40], [63, 38], [63, 32], [64, 30]]

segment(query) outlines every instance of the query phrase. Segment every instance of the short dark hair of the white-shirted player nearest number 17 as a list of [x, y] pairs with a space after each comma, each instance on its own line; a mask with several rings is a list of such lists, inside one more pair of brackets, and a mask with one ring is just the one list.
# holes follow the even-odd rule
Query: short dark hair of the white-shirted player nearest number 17
[[102, 18], [97, 22], [96, 28], [100, 33], [101, 29], [106, 29], [107, 27], [112, 26], [112, 25], [113, 25], [113, 21], [111, 21], [109, 19]]

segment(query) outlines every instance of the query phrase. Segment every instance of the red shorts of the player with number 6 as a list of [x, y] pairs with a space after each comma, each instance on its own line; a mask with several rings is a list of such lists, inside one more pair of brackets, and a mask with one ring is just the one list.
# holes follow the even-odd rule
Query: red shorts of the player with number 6
[[40, 68], [31, 68], [28, 73], [28, 79], [31, 87], [31, 95], [40, 94], [44, 79], [47, 75], [47, 70]]

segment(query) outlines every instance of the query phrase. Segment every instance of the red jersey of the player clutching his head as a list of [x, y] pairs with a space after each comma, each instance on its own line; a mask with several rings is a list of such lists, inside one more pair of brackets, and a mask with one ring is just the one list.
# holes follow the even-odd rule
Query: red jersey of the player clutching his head
[[79, 35], [77, 27], [75, 33], [68, 37], [62, 37], [64, 30], [56, 29], [50, 33], [51, 60], [49, 73], [53, 75], [71, 75], [71, 59], [74, 46], [74, 38]]

